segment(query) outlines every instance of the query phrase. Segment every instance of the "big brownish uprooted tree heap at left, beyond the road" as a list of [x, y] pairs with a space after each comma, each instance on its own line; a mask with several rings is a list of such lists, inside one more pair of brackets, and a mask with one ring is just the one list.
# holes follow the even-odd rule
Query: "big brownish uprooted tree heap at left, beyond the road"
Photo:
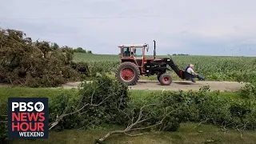
[[0, 82], [58, 86], [69, 79], [77, 80], [81, 75], [71, 67], [72, 59], [73, 51], [68, 46], [32, 42], [22, 31], [0, 29]]

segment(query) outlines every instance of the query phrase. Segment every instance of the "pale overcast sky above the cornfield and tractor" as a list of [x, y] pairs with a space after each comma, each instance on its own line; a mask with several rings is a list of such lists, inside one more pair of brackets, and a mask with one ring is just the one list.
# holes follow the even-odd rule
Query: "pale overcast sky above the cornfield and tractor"
[[34, 41], [118, 54], [148, 43], [153, 54], [256, 56], [255, 0], [0, 0], [0, 27]]

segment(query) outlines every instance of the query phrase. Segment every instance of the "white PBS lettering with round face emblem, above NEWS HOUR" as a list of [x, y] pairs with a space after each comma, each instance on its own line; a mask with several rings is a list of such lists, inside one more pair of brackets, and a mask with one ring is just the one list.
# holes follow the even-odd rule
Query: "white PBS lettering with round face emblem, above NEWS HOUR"
[[42, 102], [12, 102], [12, 111], [18, 109], [18, 111], [37, 111], [42, 112], [45, 109], [45, 105]]

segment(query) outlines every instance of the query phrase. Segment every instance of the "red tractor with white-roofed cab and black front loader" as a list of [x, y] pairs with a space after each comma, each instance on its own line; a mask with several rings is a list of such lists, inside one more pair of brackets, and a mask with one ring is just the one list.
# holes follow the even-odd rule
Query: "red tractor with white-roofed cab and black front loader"
[[154, 58], [146, 58], [145, 52], [149, 50], [148, 44], [143, 45], [120, 45], [121, 64], [115, 74], [118, 81], [128, 85], [136, 85], [139, 77], [157, 75], [158, 81], [163, 86], [168, 86], [172, 82], [170, 74], [166, 73], [167, 65], [178, 74], [179, 78], [190, 79], [191, 74], [184, 70], [178, 69], [171, 58], [156, 59], [155, 41], [154, 41]]

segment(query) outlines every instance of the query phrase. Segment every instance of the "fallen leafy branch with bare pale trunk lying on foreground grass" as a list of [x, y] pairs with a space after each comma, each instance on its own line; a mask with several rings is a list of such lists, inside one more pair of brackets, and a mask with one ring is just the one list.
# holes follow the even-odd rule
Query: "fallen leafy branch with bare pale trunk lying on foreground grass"
[[[128, 125], [123, 130], [113, 130], [108, 132], [105, 136], [102, 138], [99, 138], [95, 140], [95, 144], [103, 144], [104, 141], [106, 141], [107, 138], [109, 138], [113, 134], [125, 134], [130, 137], [134, 136], [140, 136], [143, 134], [148, 134], [147, 132], [143, 130], [149, 131], [150, 129], [154, 130], [167, 130], [167, 131], [174, 131], [178, 129], [179, 121], [170, 119], [175, 118], [172, 116], [173, 113], [175, 113], [177, 110], [181, 109], [182, 106], [179, 106], [175, 110], [170, 110], [168, 107], [159, 109], [160, 112], [158, 114], [158, 118], [154, 117], [154, 113], [156, 110], [154, 109], [157, 104], [149, 104], [141, 106], [140, 110], [138, 111], [138, 114], [135, 113], [132, 115], [132, 117], [128, 120]], [[146, 110], [145, 110], [146, 109]], [[142, 132], [137, 132], [142, 131]], [[134, 134], [133, 134], [134, 133]]]

